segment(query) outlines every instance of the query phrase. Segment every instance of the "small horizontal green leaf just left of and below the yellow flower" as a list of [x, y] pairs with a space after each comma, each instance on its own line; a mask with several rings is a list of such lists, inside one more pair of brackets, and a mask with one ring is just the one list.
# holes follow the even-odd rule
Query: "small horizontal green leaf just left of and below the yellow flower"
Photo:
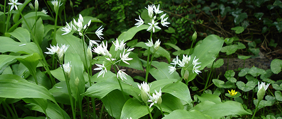
[[195, 95], [201, 102], [204, 102], [204, 101], [211, 101], [211, 102], [214, 102], [216, 104], [218, 103], [221, 103], [221, 99], [216, 96], [216, 95], [213, 95], [213, 94], [203, 94], [202, 96], [198, 96], [198, 95]]

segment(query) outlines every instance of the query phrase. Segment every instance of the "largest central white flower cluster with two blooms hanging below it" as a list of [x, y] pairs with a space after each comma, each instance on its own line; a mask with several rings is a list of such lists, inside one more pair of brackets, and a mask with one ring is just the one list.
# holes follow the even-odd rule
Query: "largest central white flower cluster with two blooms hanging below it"
[[[91, 45], [96, 44], [97, 46], [94, 47], [92, 49], [92, 51], [94, 53], [97, 53], [101, 56], [103, 56], [105, 59], [107, 59], [107, 61], [111, 62], [112, 64], [116, 64], [120, 61], [123, 61], [124, 63], [130, 65], [130, 63], [128, 63], [128, 60], [132, 60], [132, 58], [129, 58], [130, 55], [130, 51], [132, 51], [134, 48], [125, 48], [125, 44], [124, 40], [122, 41], [118, 41], [118, 39], [116, 40], [116, 43], [113, 42], [113, 44], [115, 45], [115, 54], [111, 54], [108, 51], [108, 41], [106, 41], [106, 43], [104, 41], [102, 41], [101, 44], [98, 44], [97, 42], [95, 42], [94, 40], [92, 41]], [[119, 56], [119, 57], [118, 57]], [[98, 68], [95, 68], [94, 70], [101, 70], [98, 74], [98, 77], [101, 76], [107, 72], [107, 68], [106, 66], [104, 66], [104, 64], [96, 64], [98, 66]], [[128, 76], [125, 72], [125, 69], [120, 69], [117, 73], [117, 78], [118, 79], [127, 79], [126, 76]]]

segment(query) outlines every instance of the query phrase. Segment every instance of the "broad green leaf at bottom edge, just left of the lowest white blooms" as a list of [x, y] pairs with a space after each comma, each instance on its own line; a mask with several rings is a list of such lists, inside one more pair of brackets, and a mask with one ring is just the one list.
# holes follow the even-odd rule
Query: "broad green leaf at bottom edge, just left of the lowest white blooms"
[[[150, 112], [153, 108], [150, 108]], [[137, 99], [128, 99], [122, 107], [120, 119], [139, 119], [148, 114], [147, 107]]]

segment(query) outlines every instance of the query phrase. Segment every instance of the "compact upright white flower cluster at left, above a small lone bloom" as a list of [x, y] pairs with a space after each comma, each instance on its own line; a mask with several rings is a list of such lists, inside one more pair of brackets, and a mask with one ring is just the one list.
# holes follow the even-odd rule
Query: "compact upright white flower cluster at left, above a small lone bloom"
[[65, 52], [67, 51], [67, 49], [69, 48], [70, 45], [66, 45], [66, 44], [62, 44], [61, 47], [58, 46], [55, 46], [55, 45], [50, 45], [50, 48], [47, 48], [48, 49], [48, 52], [45, 52], [46, 54], [50, 54], [50, 55], [54, 55], [54, 54], [57, 54], [59, 60], [60, 60], [60, 63], [62, 63], [63, 59], [64, 59], [64, 54]]

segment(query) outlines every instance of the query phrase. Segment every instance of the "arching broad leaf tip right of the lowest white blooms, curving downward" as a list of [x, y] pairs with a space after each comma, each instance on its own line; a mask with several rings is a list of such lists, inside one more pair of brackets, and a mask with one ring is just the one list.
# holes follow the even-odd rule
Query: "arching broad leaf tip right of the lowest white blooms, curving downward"
[[190, 91], [187, 85], [181, 81], [176, 81], [174, 83], [165, 85], [164, 88], [162, 88], [162, 92], [169, 93], [179, 99], [186, 101], [188, 104], [192, 102]]

